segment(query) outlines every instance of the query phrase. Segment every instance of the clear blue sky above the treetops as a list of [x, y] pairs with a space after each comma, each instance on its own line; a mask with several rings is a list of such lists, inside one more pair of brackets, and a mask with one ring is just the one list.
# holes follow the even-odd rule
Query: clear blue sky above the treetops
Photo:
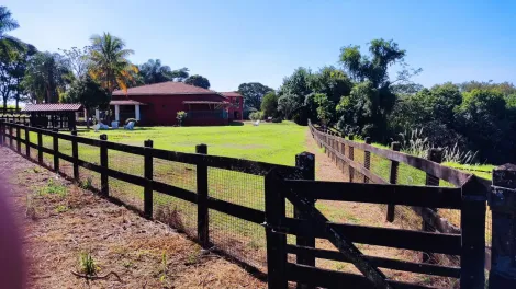
[[139, 65], [161, 59], [213, 90], [258, 81], [273, 89], [300, 66], [337, 65], [343, 46], [383, 37], [423, 68], [415, 82], [516, 82], [516, 1], [2, 0], [10, 34], [40, 50], [82, 47], [110, 32]]

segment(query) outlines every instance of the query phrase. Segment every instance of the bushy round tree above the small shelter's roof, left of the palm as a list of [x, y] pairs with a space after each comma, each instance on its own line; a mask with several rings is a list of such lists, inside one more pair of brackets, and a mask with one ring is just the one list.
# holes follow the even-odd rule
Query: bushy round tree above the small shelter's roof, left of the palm
[[59, 54], [37, 53], [32, 57], [22, 81], [26, 92], [35, 100], [57, 103], [74, 76]]

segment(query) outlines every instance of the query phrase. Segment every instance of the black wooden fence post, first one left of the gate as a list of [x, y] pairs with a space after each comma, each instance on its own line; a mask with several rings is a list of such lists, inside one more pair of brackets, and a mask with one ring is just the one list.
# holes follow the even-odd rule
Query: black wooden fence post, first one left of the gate
[[[207, 154], [206, 144], [195, 146], [195, 152]], [[198, 239], [203, 248], [210, 247], [210, 213], [207, 209], [207, 165], [197, 165], [198, 186]]]

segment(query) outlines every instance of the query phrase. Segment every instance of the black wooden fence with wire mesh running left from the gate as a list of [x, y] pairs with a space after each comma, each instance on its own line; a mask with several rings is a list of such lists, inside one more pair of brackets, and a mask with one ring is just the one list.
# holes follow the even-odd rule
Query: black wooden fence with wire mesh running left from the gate
[[[51, 139], [49, 146], [45, 146], [46, 139]], [[70, 151], [64, 151], [60, 142], [69, 142]], [[98, 190], [101, 195], [122, 198], [122, 203], [136, 208], [146, 218], [166, 218], [165, 221], [168, 222], [171, 218], [177, 219], [176, 215], [179, 215], [180, 223], [169, 224], [184, 227], [178, 229], [184, 230], [204, 248], [214, 246], [222, 253], [262, 271], [266, 268], [267, 259], [265, 231], [257, 230], [265, 221], [265, 192], [260, 182], [272, 169], [280, 172], [285, 178], [298, 180], [306, 175], [304, 167], [209, 155], [205, 144], [198, 146], [197, 153], [183, 153], [155, 149], [150, 140], [145, 141], [144, 147], [128, 146], [108, 141], [106, 135], [101, 135], [100, 139], [91, 139], [77, 136], [77, 131], [65, 135], [1, 120], [0, 144], [8, 146], [19, 153], [24, 146], [26, 158], [34, 159], [40, 164], [49, 161], [52, 170], [65, 173], [78, 182], [88, 178], [90, 183], [96, 183], [91, 182], [91, 178], [94, 178], [93, 175], [100, 175]], [[100, 154], [100, 161], [81, 157], [82, 153], [79, 153], [81, 146], [97, 148], [94, 153]], [[126, 154], [125, 159], [117, 159], [114, 157], [114, 152]], [[138, 155], [141, 155], [142, 162], [130, 162], [128, 158]], [[164, 164], [164, 162], [166, 163]], [[65, 163], [69, 164], [70, 170], [66, 170]], [[122, 163], [123, 166], [137, 166], [142, 170], [127, 172], [116, 169], [116, 163]], [[161, 170], [159, 165], [166, 165], [166, 169]], [[168, 174], [170, 165], [182, 165], [179, 169], [181, 173], [189, 172], [188, 167], [193, 167], [193, 175], [183, 184], [180, 180], [173, 178], [175, 176], [171, 176], [171, 182], [158, 177], [161, 173]], [[309, 167], [309, 170], [313, 170], [313, 167]], [[313, 174], [313, 172], [309, 172], [309, 174], [311, 173]], [[255, 184], [240, 184], [237, 183], [238, 180], [233, 178], [250, 180]], [[119, 197], [122, 193], [117, 190], [120, 185], [113, 183], [114, 180], [127, 184], [122, 188], [132, 186], [139, 187], [141, 190], [135, 192], [134, 196]], [[211, 182], [210, 186], [209, 182]], [[231, 186], [238, 188], [236, 196], [231, 196], [225, 192], [231, 189]], [[246, 190], [246, 186], [256, 186], [257, 189]], [[250, 193], [254, 196], [246, 196], [245, 193]], [[141, 200], [137, 200], [134, 206], [131, 201], [134, 203], [134, 197], [137, 198], [139, 194], [143, 195], [143, 206], [139, 205]], [[250, 198], [253, 199], [248, 200]], [[167, 204], [171, 208], [164, 209]], [[164, 217], [164, 215], [166, 216]], [[195, 219], [197, 221], [194, 221]], [[243, 242], [242, 240], [247, 241]], [[247, 252], [247, 246], [253, 246], [253, 252]]]

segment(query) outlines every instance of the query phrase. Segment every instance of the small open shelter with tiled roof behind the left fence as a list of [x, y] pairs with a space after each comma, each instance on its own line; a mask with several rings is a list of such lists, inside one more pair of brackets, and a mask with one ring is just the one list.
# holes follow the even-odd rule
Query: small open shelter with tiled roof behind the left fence
[[81, 104], [45, 103], [27, 104], [22, 113], [31, 115], [33, 127], [47, 129], [76, 129], [76, 113], [82, 109]]

